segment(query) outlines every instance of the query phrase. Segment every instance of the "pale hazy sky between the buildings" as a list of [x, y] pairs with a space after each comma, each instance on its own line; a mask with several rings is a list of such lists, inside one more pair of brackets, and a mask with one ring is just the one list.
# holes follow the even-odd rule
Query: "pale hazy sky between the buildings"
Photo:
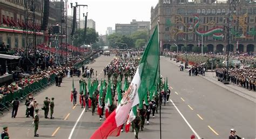
[[[96, 22], [96, 31], [99, 34], [106, 33], [106, 27], [114, 25], [130, 24], [132, 19], [150, 21], [151, 6], [156, 6], [158, 0], [68, 0], [69, 13], [71, 15], [70, 3], [88, 5], [88, 19]], [[84, 9], [86, 13], [86, 7]], [[81, 17], [83, 8], [81, 8]]]

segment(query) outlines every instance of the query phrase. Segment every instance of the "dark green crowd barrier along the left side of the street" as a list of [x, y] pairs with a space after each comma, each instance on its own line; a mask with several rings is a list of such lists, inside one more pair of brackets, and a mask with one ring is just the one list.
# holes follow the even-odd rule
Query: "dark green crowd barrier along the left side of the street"
[[[0, 100], [0, 110], [4, 110], [4, 109], [9, 110], [8, 107], [12, 106], [11, 102], [12, 100], [15, 100], [15, 98], [22, 100], [26, 98], [28, 94], [30, 93], [36, 94], [38, 91], [41, 91], [42, 89], [48, 87], [53, 82], [55, 82], [55, 74], [51, 74], [49, 79], [43, 78], [39, 81], [33, 82], [33, 84], [23, 87], [18, 91], [4, 95], [2, 97], [2, 101]], [[2, 112], [0, 113], [3, 114]]]

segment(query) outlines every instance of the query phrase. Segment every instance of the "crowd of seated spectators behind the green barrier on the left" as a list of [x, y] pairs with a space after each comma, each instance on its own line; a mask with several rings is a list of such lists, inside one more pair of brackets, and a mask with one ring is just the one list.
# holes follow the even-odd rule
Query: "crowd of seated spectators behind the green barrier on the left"
[[[17, 50], [15, 52], [15, 55], [21, 56], [24, 53], [25, 53], [24, 50]], [[68, 69], [73, 70], [73, 73], [75, 73], [76, 67], [73, 67], [73, 65], [80, 61], [83, 61], [91, 53], [88, 52], [84, 55], [75, 55], [72, 57], [72, 59], [71, 59], [71, 55], [69, 55], [68, 63], [66, 63], [62, 66], [54, 66], [54, 64], [51, 62], [52, 60], [50, 60], [50, 58], [49, 58], [48, 52], [38, 50], [38, 54], [42, 55], [43, 64], [41, 64], [41, 62], [38, 62], [38, 64], [37, 64], [38, 66], [36, 68], [31, 67], [29, 72], [23, 70], [22, 67], [17, 67], [19, 70], [21, 70], [21, 73], [18, 75], [17, 80], [12, 82], [9, 85], [5, 84], [5, 85], [1, 86], [0, 87], [0, 95], [14, 93], [15, 91], [18, 91], [19, 89], [23, 89], [25, 86], [33, 84], [33, 82], [39, 81], [43, 78], [49, 79], [52, 74], [65, 73], [64, 74], [64, 77], [65, 77], [65, 75], [68, 73]], [[47, 66], [46, 66], [46, 62], [44, 62], [44, 60], [50, 61], [50, 62], [47, 62]]]

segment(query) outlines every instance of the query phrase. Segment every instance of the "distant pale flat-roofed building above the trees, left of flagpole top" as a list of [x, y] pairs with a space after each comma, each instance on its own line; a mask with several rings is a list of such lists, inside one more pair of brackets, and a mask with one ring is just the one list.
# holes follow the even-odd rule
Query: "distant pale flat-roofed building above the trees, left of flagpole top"
[[123, 35], [131, 35], [136, 31], [150, 31], [150, 22], [132, 20], [130, 24], [116, 24], [116, 33]]

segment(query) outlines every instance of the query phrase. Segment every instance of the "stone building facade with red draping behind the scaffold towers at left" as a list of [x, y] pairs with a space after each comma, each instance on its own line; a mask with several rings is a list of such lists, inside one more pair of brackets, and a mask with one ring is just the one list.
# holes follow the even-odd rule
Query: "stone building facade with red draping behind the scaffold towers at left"
[[[48, 34], [48, 32], [40, 31], [43, 15], [42, 5], [43, 1], [35, 0], [37, 44], [48, 41], [48, 37], [45, 37], [45, 34]], [[50, 2], [48, 27], [56, 24], [55, 6], [55, 4]], [[8, 44], [9, 48], [25, 47], [24, 1], [0, 0], [0, 9], [0, 43]]]

